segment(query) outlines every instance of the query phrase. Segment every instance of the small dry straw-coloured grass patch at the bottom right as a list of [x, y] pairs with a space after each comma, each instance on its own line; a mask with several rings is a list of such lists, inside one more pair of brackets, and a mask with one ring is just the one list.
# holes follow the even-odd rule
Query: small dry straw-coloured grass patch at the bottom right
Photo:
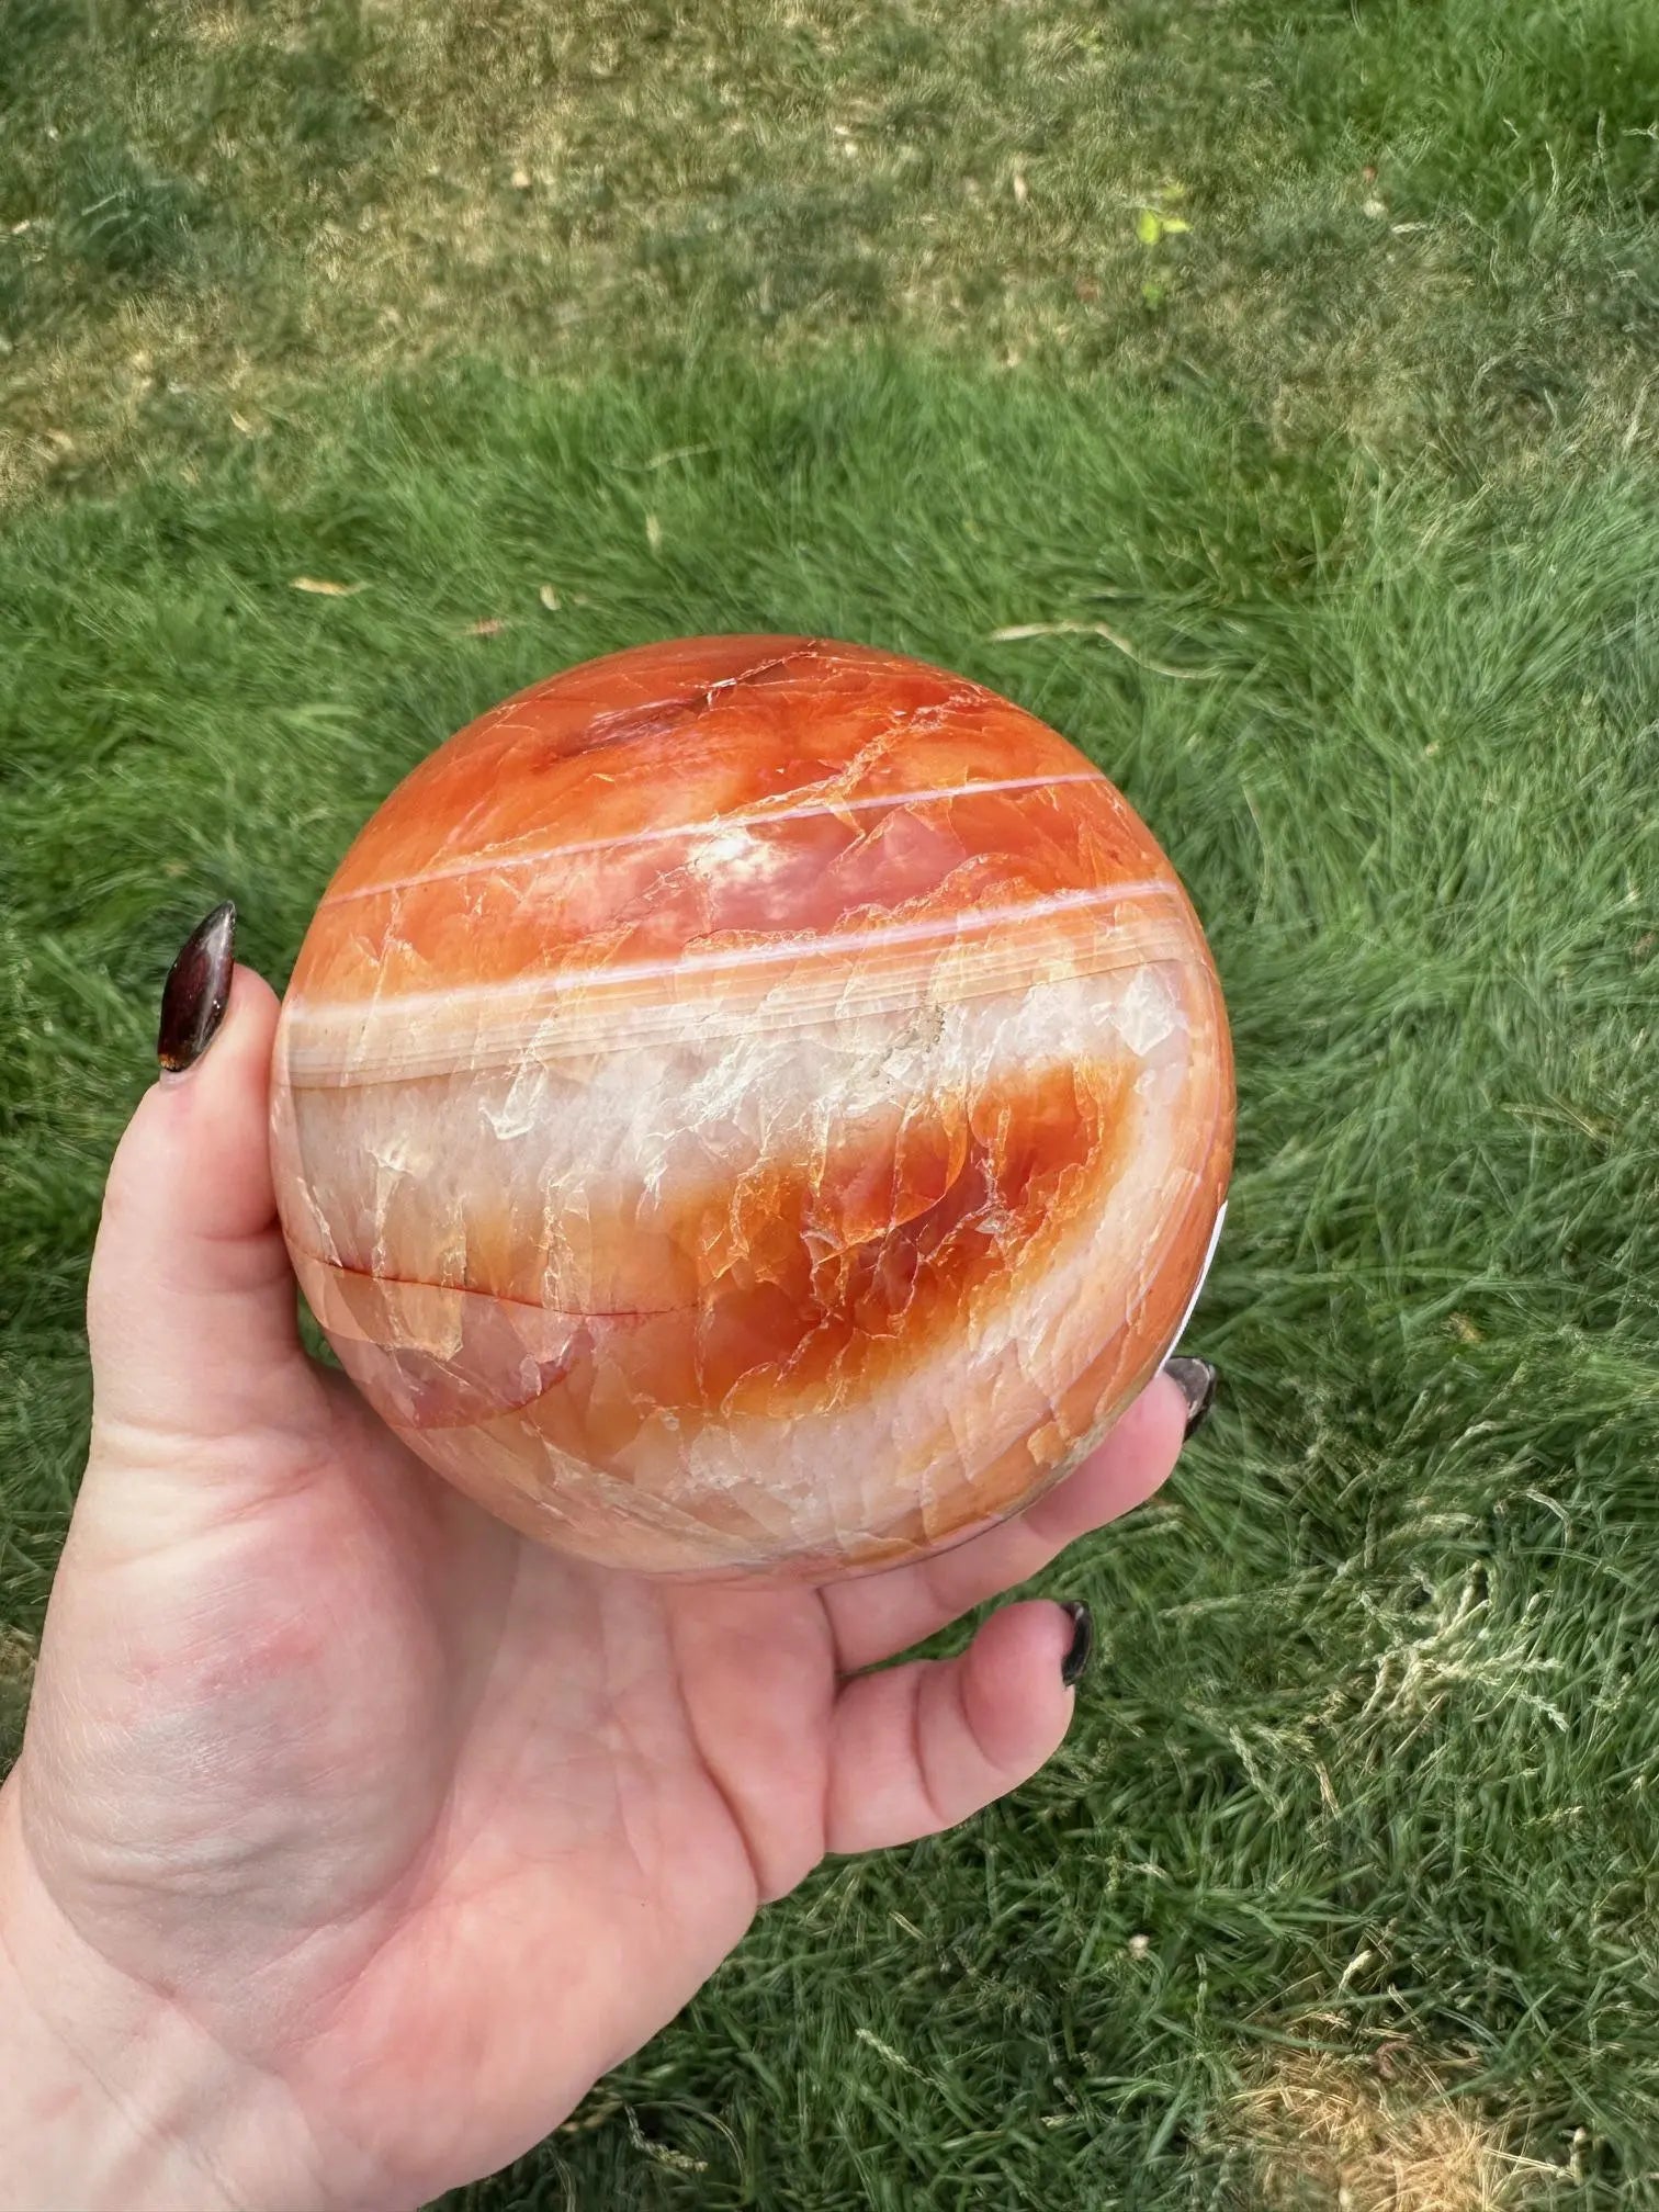
[[1281, 2055], [1239, 2124], [1272, 2212], [1517, 2212], [1540, 2172], [1400, 2044]]

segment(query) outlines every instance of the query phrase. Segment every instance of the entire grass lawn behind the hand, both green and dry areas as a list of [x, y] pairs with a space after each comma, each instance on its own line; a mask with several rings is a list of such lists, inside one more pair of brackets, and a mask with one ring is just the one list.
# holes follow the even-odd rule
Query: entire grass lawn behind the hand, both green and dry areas
[[184, 931], [551, 668], [922, 653], [1206, 918], [1225, 1396], [1053, 1767], [451, 2203], [1659, 2203], [1648, 0], [11, 0], [0, 108], [0, 1730]]

